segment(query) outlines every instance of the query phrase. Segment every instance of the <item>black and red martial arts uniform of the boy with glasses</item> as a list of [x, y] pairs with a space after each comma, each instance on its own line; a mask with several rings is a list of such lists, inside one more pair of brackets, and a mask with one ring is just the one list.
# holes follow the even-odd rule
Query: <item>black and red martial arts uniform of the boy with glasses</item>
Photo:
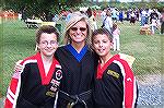
[[39, 52], [21, 64], [23, 70], [12, 76], [4, 108], [54, 108], [62, 79], [59, 62], [54, 58], [47, 75]]

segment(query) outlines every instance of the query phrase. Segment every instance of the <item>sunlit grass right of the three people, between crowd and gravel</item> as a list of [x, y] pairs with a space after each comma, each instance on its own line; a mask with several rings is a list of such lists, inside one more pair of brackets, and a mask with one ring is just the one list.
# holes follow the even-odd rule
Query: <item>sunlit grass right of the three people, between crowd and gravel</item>
[[162, 40], [164, 37], [155, 35], [140, 35], [139, 23], [131, 26], [121, 25], [121, 51], [136, 57], [133, 71], [137, 75], [162, 72]]

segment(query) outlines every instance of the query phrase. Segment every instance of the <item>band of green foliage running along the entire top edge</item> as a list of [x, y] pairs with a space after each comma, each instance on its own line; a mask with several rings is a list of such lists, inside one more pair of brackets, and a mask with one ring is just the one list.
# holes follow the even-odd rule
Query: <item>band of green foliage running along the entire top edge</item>
[[[162, 9], [164, 7], [163, 2], [91, 2], [90, 0], [5, 0], [2, 1], [3, 10], [13, 10], [15, 12], [25, 13], [27, 17], [33, 15], [40, 17], [46, 17], [55, 13], [60, 13], [61, 10], [69, 10], [70, 8], [77, 9], [78, 7], [92, 7], [93, 4], [103, 8], [116, 7], [118, 9], [136, 9], [136, 8], [157, 8]], [[44, 14], [45, 13], [45, 14]], [[44, 16], [45, 15], [45, 16]]]

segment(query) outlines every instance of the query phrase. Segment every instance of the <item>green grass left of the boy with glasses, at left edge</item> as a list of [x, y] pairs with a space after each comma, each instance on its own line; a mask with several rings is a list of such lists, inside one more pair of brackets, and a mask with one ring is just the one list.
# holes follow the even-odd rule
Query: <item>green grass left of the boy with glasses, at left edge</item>
[[35, 52], [35, 29], [26, 28], [24, 23], [19, 21], [3, 22], [2, 29], [1, 72], [3, 73], [2, 95], [4, 95], [13, 74], [15, 62]]

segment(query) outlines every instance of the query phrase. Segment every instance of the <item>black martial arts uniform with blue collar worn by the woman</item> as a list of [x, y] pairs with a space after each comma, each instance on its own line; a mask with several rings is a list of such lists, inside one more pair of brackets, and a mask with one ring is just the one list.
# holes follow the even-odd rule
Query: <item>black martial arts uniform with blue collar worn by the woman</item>
[[56, 58], [62, 67], [58, 108], [92, 108], [91, 89], [94, 77], [94, 55], [84, 46], [80, 53], [71, 46], [59, 47]]

